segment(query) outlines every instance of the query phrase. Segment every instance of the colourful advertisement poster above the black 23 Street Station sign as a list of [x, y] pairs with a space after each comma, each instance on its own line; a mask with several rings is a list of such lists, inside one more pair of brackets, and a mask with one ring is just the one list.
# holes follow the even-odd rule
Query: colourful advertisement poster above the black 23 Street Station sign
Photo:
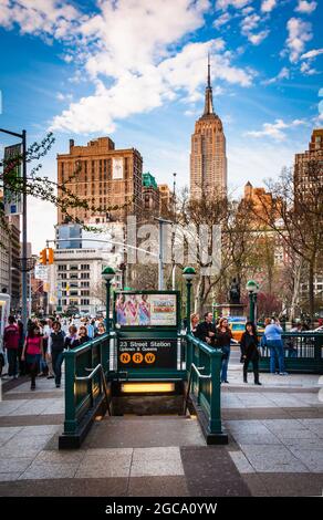
[[119, 294], [116, 326], [176, 326], [176, 294]]

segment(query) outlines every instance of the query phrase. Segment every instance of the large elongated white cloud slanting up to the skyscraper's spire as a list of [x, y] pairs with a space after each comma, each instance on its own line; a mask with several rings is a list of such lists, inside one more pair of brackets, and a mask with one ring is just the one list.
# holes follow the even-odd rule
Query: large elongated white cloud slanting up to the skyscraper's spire
[[[198, 89], [206, 83], [208, 51], [211, 51], [213, 77], [249, 86], [252, 73], [232, 66], [226, 53], [221, 53], [223, 50], [221, 39], [189, 43], [158, 65], [147, 65], [142, 75], [124, 72], [111, 87], [96, 80], [95, 94], [72, 103], [69, 110], [53, 119], [52, 129], [111, 133], [115, 121], [156, 108], [164, 102], [173, 101], [181, 91], [186, 92], [188, 102], [197, 101], [200, 97]], [[221, 92], [216, 85], [215, 94]]]

